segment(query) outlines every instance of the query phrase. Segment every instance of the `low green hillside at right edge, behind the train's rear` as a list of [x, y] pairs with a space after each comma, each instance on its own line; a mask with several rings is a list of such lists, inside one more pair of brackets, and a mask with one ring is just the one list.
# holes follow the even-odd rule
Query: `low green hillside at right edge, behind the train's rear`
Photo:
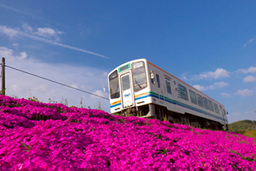
[[[253, 123], [254, 122], [254, 123]], [[256, 127], [256, 121], [252, 121], [252, 120], [240, 120], [237, 122], [233, 122], [231, 124], [229, 124], [229, 131], [232, 132], [236, 132], [236, 131], [246, 131], [246, 130], [250, 130], [250, 131], [255, 131], [255, 127]]]

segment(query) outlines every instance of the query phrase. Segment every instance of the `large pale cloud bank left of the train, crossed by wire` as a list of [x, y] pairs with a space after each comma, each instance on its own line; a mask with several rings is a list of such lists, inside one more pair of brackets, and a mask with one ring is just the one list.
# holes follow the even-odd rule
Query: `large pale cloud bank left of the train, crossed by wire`
[[[25, 56], [27, 53], [24, 51], [22, 52], [23, 55], [14, 55], [15, 53], [16, 51], [7, 49], [6, 47], [0, 47], [0, 55], [5, 54], [6, 65], [10, 67], [28, 71], [56, 82], [71, 85], [74, 88], [80, 88], [85, 92], [93, 92], [99, 96], [108, 98], [108, 91], [102, 92], [102, 87], [108, 85], [107, 76], [101, 77], [101, 75], [105, 75], [108, 71], [93, 67], [76, 67], [66, 64], [44, 63], [31, 58], [23, 58], [21, 60], [21, 56]], [[10, 67], [6, 67], [7, 96], [18, 96], [19, 98], [25, 99], [30, 96], [35, 96], [40, 101], [46, 103], [48, 102], [48, 98], [58, 102], [67, 99], [68, 106], [75, 105], [77, 107], [81, 106], [81, 97], [83, 97], [83, 104], [87, 107], [97, 106], [98, 101], [100, 101], [102, 108], [109, 112], [109, 100], [91, 96], [85, 92], [79, 92], [44, 79], [39, 79], [35, 76], [15, 71]], [[94, 75], [86, 75], [84, 73], [94, 73]]]

